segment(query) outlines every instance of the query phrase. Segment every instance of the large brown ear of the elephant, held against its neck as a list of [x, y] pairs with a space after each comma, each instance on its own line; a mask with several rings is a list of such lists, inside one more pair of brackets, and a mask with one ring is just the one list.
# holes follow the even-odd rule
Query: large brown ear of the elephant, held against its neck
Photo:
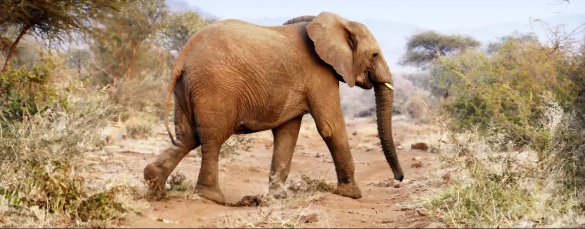
[[321, 12], [307, 25], [307, 33], [321, 60], [333, 66], [343, 81], [353, 87], [357, 77], [353, 50], [357, 40], [349, 25], [349, 21], [335, 13]]

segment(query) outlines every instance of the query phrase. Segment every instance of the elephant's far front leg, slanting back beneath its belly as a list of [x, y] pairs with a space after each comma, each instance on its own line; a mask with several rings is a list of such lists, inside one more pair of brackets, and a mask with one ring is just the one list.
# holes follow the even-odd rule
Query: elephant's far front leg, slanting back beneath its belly
[[297, 145], [298, 132], [301, 129], [302, 116], [272, 129], [274, 151], [270, 166], [269, 192], [277, 198], [286, 197], [284, 182], [291, 169], [291, 159]]

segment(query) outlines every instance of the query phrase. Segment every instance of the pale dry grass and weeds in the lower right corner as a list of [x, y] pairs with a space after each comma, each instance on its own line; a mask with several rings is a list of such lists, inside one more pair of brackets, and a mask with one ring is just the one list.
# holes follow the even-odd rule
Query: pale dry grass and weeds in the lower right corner
[[[571, 114], [562, 112], [553, 100], [548, 104], [543, 111], [549, 118], [538, 122], [546, 128], [541, 131], [549, 131], [554, 137], [558, 131], [569, 129], [573, 121]], [[457, 228], [583, 223], [578, 209], [580, 193], [566, 186], [575, 182], [566, 174], [567, 166], [574, 161], [561, 155], [562, 151], [541, 155], [531, 148], [495, 150], [498, 147], [493, 147], [493, 139], [479, 137], [473, 129], [459, 136], [445, 129], [445, 134], [446, 143], [455, 149], [455, 154], [443, 155], [450, 166], [450, 176], [443, 177], [448, 188], [422, 200], [444, 223]], [[489, 136], [497, 138], [498, 133]], [[556, 137], [563, 141], [561, 136]]]

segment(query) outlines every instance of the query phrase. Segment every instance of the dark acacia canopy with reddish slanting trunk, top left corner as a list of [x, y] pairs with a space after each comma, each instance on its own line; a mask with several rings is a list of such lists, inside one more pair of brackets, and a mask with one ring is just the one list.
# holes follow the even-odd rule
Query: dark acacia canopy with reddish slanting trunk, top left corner
[[18, 35], [9, 48], [2, 73], [22, 37], [32, 33], [47, 41], [64, 41], [71, 33], [85, 30], [92, 19], [102, 18], [125, 0], [2, 0], [0, 27], [16, 28]]

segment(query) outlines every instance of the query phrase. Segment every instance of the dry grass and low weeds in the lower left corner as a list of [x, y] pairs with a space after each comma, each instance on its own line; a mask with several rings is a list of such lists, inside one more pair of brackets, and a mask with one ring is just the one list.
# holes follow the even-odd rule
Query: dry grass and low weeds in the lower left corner
[[111, 227], [134, 211], [126, 185], [91, 186], [87, 157], [104, 156], [99, 129], [116, 108], [104, 94], [70, 98], [25, 123], [2, 122], [0, 221], [6, 227]]

